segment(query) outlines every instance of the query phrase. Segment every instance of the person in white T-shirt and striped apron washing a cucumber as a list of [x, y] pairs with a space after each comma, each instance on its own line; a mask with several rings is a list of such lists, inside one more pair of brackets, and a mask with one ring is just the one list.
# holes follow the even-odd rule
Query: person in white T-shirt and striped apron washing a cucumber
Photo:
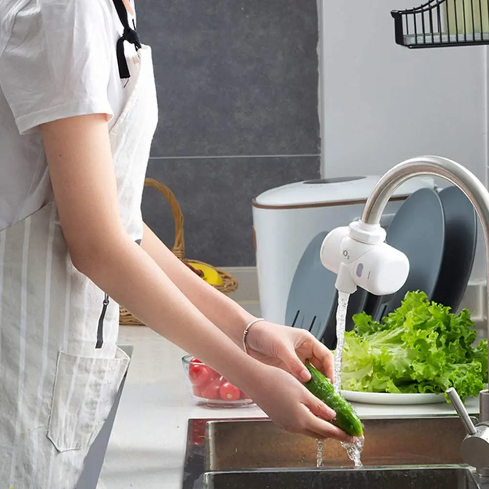
[[142, 221], [157, 107], [129, 0], [2, 0], [0, 22], [0, 489], [75, 487], [129, 362], [118, 304], [278, 425], [348, 441], [299, 382], [306, 357], [332, 377], [331, 352], [248, 314]]

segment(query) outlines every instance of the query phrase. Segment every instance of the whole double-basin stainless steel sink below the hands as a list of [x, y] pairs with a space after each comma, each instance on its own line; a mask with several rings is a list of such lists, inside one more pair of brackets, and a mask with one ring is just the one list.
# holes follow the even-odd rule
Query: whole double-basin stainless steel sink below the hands
[[[453, 417], [366, 419], [364, 467], [327, 440], [316, 442], [266, 419], [189, 420], [183, 489], [475, 489], [463, 464], [466, 433]], [[341, 469], [340, 469], [341, 467]], [[489, 487], [486, 486], [487, 489]]]

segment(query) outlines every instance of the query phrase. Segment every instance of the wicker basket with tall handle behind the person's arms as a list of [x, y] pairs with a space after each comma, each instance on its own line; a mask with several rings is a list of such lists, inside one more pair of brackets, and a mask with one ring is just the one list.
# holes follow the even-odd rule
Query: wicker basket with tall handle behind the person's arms
[[[170, 204], [173, 219], [175, 221], [175, 243], [173, 245], [172, 252], [180, 260], [186, 263], [187, 260], [185, 259], [185, 241], [183, 237], [183, 214], [180, 209], [180, 205], [178, 204], [178, 200], [176, 199], [174, 193], [166, 185], [153, 178], [146, 178], [144, 184], [147, 187], [153, 187], [156, 188], [156, 190], [159, 190]], [[197, 264], [200, 263], [202, 265], [206, 265], [207, 267], [212, 267], [212, 265], [200, 262], [198, 260], [189, 261]], [[228, 294], [230, 292], [234, 292], [238, 288], [238, 281], [230, 273], [224, 270], [220, 270], [216, 267], [213, 268], [219, 273], [222, 278], [222, 284], [214, 285], [216, 289], [220, 290], [222, 293]], [[124, 326], [143, 326], [143, 323], [141, 323], [141, 321], [135, 318], [122, 306], [120, 308], [120, 324]]]

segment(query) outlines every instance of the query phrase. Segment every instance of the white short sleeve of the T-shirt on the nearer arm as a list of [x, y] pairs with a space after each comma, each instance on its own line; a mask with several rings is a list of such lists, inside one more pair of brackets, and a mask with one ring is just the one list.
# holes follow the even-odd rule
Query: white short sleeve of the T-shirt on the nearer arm
[[17, 13], [0, 56], [1, 89], [21, 134], [77, 115], [113, 113], [115, 56], [106, 0], [35, 0]]

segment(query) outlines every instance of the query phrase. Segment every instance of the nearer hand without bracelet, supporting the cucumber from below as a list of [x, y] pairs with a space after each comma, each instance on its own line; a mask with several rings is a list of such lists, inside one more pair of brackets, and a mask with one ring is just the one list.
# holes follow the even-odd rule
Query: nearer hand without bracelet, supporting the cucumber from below
[[263, 365], [260, 382], [245, 391], [280, 428], [318, 439], [336, 438], [352, 443], [353, 438], [327, 420], [335, 413], [284, 370]]

